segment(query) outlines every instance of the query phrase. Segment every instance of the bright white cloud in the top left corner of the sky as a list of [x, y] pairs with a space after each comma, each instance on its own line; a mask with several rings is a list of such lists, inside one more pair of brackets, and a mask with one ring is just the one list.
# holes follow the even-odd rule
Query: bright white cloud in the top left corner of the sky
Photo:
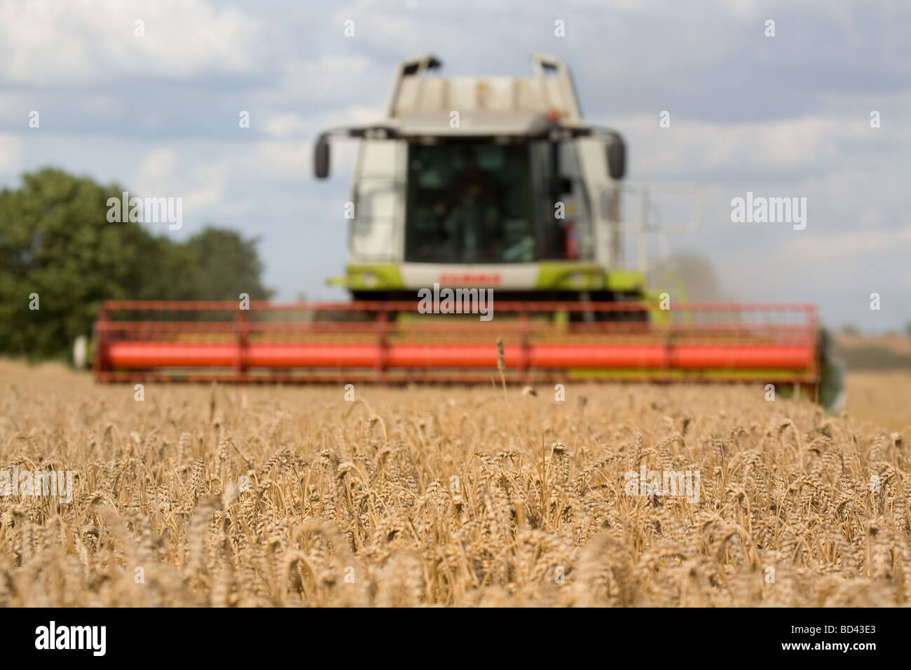
[[16, 84], [249, 74], [266, 43], [257, 18], [203, 0], [0, 2], [0, 78]]

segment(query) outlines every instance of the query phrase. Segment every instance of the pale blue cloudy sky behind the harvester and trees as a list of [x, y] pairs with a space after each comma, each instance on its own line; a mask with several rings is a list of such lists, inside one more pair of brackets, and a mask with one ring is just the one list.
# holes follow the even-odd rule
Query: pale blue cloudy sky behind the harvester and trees
[[[180, 230], [149, 228], [237, 229], [259, 238], [279, 299], [340, 299], [323, 280], [343, 273], [354, 147], [315, 180], [315, 136], [381, 119], [404, 57], [520, 76], [544, 52], [571, 68], [585, 117], [624, 135], [630, 182], [705, 193], [671, 253], [710, 259], [732, 299], [898, 330], [911, 322], [909, 34], [911, 3], [888, 0], [0, 0], [0, 187], [54, 166], [181, 197]], [[732, 222], [748, 191], [805, 198], [805, 228]]]

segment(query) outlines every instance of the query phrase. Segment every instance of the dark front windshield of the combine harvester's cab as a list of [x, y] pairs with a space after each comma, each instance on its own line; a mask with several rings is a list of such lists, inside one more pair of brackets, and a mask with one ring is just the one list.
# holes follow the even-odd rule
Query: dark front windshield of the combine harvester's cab
[[528, 145], [490, 141], [408, 147], [405, 260], [534, 260]]

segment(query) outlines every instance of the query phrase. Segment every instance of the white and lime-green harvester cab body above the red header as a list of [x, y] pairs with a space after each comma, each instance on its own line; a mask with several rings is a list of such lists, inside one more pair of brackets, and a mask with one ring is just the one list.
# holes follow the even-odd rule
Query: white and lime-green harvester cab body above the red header
[[411, 299], [434, 283], [502, 300], [644, 296], [645, 268], [623, 261], [623, 139], [583, 121], [562, 62], [531, 62], [530, 77], [443, 78], [428, 76], [437, 57], [404, 60], [385, 119], [317, 139], [318, 178], [333, 139], [361, 140], [338, 282], [354, 299]]

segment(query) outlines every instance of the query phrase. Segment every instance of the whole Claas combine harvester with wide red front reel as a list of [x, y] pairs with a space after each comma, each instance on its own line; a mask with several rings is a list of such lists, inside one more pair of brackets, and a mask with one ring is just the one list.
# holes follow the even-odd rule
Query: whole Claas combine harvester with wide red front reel
[[[360, 140], [335, 280], [351, 302], [108, 302], [97, 379], [489, 383], [502, 339], [508, 382], [752, 382], [815, 396], [812, 305], [688, 304], [647, 289], [649, 237], [667, 232], [649, 222], [650, 198], [692, 196], [687, 228], [699, 191], [623, 184], [619, 134], [583, 121], [563, 63], [532, 64], [532, 77], [442, 78], [427, 74], [437, 58], [409, 59], [382, 122], [322, 133], [320, 179], [330, 140]], [[435, 284], [492, 312], [451, 314], [444, 301], [425, 314], [419, 292]]]

